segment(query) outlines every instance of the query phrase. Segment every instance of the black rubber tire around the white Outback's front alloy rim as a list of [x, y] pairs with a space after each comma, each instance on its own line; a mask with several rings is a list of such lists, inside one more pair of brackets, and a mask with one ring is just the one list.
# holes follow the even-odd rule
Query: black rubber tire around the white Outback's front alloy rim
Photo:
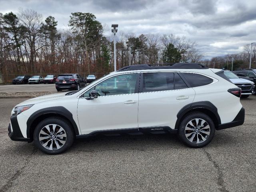
[[[41, 142], [39, 141], [40, 131], [42, 130], [42, 128], [44, 128], [44, 126], [49, 125], [49, 124], [56, 124], [56, 125], [62, 127], [64, 129], [64, 131], [66, 132], [66, 141], [59, 149], [55, 149], [55, 150], [47, 149], [44, 146], [42, 146]], [[60, 154], [60, 153], [63, 153], [64, 151], [68, 150], [72, 146], [72, 144], [74, 142], [74, 136], [75, 136], [75, 134], [74, 134], [72, 125], [68, 121], [66, 121], [63, 118], [59, 118], [59, 117], [55, 117], [55, 118], [50, 117], [50, 118], [46, 118], [46, 119], [42, 120], [36, 126], [36, 128], [34, 130], [34, 143], [37, 148], [39, 148], [42, 152], [44, 152], [46, 154]], [[53, 141], [49, 141], [49, 142], [53, 142]]]

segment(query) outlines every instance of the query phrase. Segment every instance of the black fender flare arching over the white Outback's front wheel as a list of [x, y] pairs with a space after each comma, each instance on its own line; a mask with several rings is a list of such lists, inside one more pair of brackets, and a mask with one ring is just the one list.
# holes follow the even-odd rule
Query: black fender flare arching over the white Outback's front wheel
[[66, 108], [64, 108], [63, 106], [55, 106], [55, 107], [47, 107], [47, 108], [40, 109], [34, 112], [32, 115], [30, 115], [30, 117], [27, 120], [27, 137], [28, 138], [30, 137], [31, 126], [34, 120], [44, 114], [51, 114], [51, 113], [55, 113], [67, 118], [71, 122], [72, 126], [74, 127], [75, 134], [79, 135], [78, 127], [76, 125], [76, 122], [73, 119], [72, 113]]

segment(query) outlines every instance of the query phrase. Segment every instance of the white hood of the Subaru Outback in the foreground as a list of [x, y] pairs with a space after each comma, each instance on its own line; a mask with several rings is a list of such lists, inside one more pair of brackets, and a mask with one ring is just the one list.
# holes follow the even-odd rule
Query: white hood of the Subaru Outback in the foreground
[[39, 96], [39, 97], [35, 97], [32, 99], [26, 100], [24, 102], [21, 102], [21, 103], [17, 104], [16, 106], [37, 104], [37, 103], [45, 102], [45, 101], [49, 101], [49, 100], [60, 99], [60, 98], [63, 98], [65, 96], [65, 94], [67, 94], [67, 92]]

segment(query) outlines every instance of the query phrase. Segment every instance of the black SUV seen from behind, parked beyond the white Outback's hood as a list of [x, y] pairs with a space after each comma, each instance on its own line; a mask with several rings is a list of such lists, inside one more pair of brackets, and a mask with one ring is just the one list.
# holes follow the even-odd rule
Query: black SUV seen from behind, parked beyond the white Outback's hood
[[78, 74], [61, 74], [55, 81], [56, 90], [80, 90], [86, 86], [86, 81]]

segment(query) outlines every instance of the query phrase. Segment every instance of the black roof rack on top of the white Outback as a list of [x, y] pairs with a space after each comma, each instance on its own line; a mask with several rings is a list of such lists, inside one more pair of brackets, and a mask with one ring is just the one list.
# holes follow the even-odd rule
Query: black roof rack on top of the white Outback
[[123, 67], [119, 69], [118, 72], [146, 69], [208, 69], [208, 67], [198, 63], [139, 64]]

